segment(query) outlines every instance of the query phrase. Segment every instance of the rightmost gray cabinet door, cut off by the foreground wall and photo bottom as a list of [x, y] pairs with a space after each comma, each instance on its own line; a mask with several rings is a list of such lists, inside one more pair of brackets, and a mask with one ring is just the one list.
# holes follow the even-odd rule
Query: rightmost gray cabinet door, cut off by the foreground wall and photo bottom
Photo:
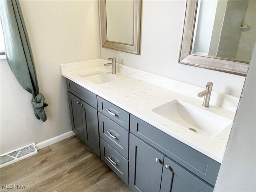
[[213, 189], [213, 186], [174, 160], [164, 157], [161, 192], [212, 192]]

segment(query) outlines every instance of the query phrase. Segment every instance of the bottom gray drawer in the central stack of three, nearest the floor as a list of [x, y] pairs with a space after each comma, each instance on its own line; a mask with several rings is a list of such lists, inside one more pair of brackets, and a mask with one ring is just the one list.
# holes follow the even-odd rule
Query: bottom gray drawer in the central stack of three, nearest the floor
[[128, 184], [128, 161], [102, 138], [100, 138], [100, 157], [126, 184]]

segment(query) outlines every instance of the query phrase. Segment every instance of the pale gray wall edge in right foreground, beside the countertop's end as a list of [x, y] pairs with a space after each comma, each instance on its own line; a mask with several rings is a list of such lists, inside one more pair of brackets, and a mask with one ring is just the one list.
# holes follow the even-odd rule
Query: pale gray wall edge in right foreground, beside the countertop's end
[[255, 66], [254, 50], [214, 191], [256, 191]]

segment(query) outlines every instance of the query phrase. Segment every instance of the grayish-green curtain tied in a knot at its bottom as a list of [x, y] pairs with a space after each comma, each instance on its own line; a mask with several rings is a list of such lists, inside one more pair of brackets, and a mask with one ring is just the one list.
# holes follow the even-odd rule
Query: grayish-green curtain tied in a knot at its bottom
[[31, 104], [37, 119], [46, 121], [44, 96], [39, 93], [34, 59], [20, 4], [15, 0], [0, 0], [0, 16], [4, 33], [6, 60], [20, 83], [32, 94]]

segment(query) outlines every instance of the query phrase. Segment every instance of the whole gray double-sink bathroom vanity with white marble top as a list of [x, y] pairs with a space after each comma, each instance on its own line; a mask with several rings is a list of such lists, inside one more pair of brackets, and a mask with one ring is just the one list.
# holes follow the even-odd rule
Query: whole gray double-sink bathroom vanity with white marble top
[[[232, 112], [214, 108], [212, 111], [215, 111], [215, 113], [220, 110], [220, 114], [226, 114], [226, 117], [222, 116], [217, 120], [224, 123], [220, 121], [221, 118], [224, 118], [227, 120], [225, 122], [227, 124], [215, 136], [212, 135], [214, 133], [203, 136], [199, 132], [195, 133], [188, 129], [181, 129], [177, 123], [160, 116], [157, 110], [147, 112], [148, 109], [145, 105], [140, 105], [134, 100], [133, 95], [136, 95], [137, 91], [143, 92], [143, 90], [137, 88], [151, 86], [154, 89], [159, 86], [140, 81], [141, 85], [138, 86], [137, 82], [138, 87], [136, 88], [133, 85], [138, 79], [123, 74], [110, 75], [110, 70], [101, 66], [86, 70], [73, 70], [72, 72], [65, 72], [64, 67], [62, 66], [62, 75], [66, 77], [72, 130], [132, 190], [213, 191], [220, 169], [220, 158], [217, 157], [218, 155], [215, 155], [215, 159], [211, 158], [210, 156], [214, 157], [214, 152], [212, 150], [209, 153], [210, 150], [205, 143], [215, 149], [218, 148], [216, 146], [221, 146], [221, 144], [214, 144], [214, 142], [216, 142], [216, 139], [218, 140], [218, 136], [222, 137], [230, 131]], [[104, 78], [100, 78], [101, 73], [105, 73]], [[88, 74], [90, 78], [88, 78]], [[108, 76], [113, 76], [116, 79], [111, 77], [110, 80]], [[103, 83], [98, 80], [102, 80]], [[128, 87], [130, 87], [129, 93], [126, 90]], [[160, 87], [154, 91], [158, 93], [158, 97], [161, 97], [161, 94], [170, 94], [170, 90]], [[122, 95], [123, 92], [125, 95]], [[118, 93], [119, 95], [117, 95]], [[109, 98], [110, 95], [113, 95], [113, 97]], [[179, 99], [176, 101], [180, 105], [184, 105], [183, 101], [191, 101], [191, 98], [182, 96], [182, 94], [173, 93], [171, 95], [171, 97]], [[179, 97], [177, 98], [177, 96]], [[146, 97], [141, 99], [140, 102], [149, 104], [148, 100], [152, 102], [156, 100], [156, 98], [150, 98], [153, 96], [149, 92]], [[156, 105], [162, 102], [158, 101]], [[193, 100], [193, 102], [195, 101]], [[202, 104], [201, 101], [200, 104]], [[196, 105], [198, 107], [199, 103], [196, 103]], [[134, 106], [145, 113], [140, 115]], [[195, 110], [193, 108], [195, 106], [190, 106], [190, 104], [188, 106]], [[200, 108], [198, 110], [204, 109]], [[207, 113], [210, 113], [209, 111], [211, 109], [204, 112], [207, 115]], [[195, 112], [198, 111], [195, 110]], [[150, 116], [151, 114], [153, 116]], [[217, 114], [214, 115], [218, 116]], [[158, 127], [149, 120], [145, 121], [143, 116], [151, 117], [151, 120], [156, 122]], [[162, 124], [169, 122], [166, 126], [174, 126], [174, 129], [164, 128], [163, 125], [160, 125], [161, 122]], [[180, 134], [175, 130], [180, 131]], [[182, 134], [184, 137], [182, 137]], [[189, 137], [192, 138], [190, 141], [188, 140]], [[191, 142], [193, 138], [195, 140], [201, 138], [202, 140], [198, 143], [205, 145], [205, 147], [199, 146], [195, 142], [193, 144]], [[210, 142], [213, 143], [210, 144]], [[215, 154], [218, 153], [215, 152]]]

